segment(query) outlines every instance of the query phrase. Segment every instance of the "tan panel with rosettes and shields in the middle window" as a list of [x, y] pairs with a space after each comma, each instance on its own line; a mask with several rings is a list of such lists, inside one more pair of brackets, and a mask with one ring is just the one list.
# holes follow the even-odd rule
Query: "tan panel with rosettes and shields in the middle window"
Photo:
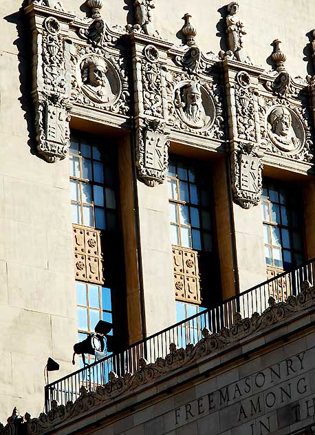
[[188, 248], [173, 246], [175, 299], [200, 303], [198, 254]]

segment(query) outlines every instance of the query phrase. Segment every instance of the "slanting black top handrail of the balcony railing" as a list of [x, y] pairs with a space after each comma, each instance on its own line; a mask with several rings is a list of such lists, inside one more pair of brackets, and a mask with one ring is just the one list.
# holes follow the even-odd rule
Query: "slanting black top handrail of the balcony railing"
[[164, 330], [160, 330], [159, 332], [155, 332], [155, 334], [150, 335], [149, 337], [146, 337], [145, 339], [142, 339], [140, 341], [137, 341], [137, 342], [127, 346], [127, 348], [120, 350], [120, 352], [117, 352], [116, 354], [109, 354], [105, 358], [99, 359], [98, 361], [95, 361], [94, 363], [91, 363], [83, 368], [80, 368], [79, 370], [76, 370], [76, 372], [72, 372], [70, 374], [67, 374], [66, 376], [63, 376], [63, 378], [60, 378], [57, 381], [54, 381], [50, 384], [47, 384], [45, 386], [45, 389], [49, 390], [50, 388], [54, 387], [55, 384], [60, 383], [62, 381], [65, 381], [66, 379], [69, 379], [70, 377], [75, 376], [76, 374], [84, 372], [85, 370], [87, 370], [87, 368], [93, 368], [94, 366], [98, 365], [99, 363], [107, 361], [107, 359], [111, 359], [111, 358], [115, 357], [116, 355], [122, 354], [123, 352], [128, 352], [129, 350], [132, 350], [133, 348], [137, 348], [138, 346], [140, 346], [146, 342], [149, 342], [152, 339], [155, 339], [155, 337], [159, 337], [163, 334], [166, 334], [167, 332], [171, 331], [172, 329], [175, 329], [175, 328], [182, 326], [182, 324], [184, 324], [184, 323], [188, 323], [199, 316], [206, 315], [206, 313], [208, 313], [211, 310], [215, 310], [221, 306], [228, 304], [231, 301], [235, 301], [235, 300], [239, 299], [241, 296], [246, 295], [248, 293], [251, 293], [252, 291], [256, 290], [257, 288], [266, 286], [266, 285], [270, 284], [271, 282], [277, 281], [277, 280], [281, 279], [281, 277], [285, 277], [286, 275], [290, 275], [291, 273], [294, 273], [296, 270], [298, 270], [302, 267], [305, 267], [309, 264], [312, 264], [314, 262], [315, 262], [315, 258], [310, 259], [309, 261], [301, 264], [300, 266], [297, 266], [296, 268], [293, 268], [292, 270], [287, 270], [283, 273], [280, 273], [279, 275], [276, 275], [273, 278], [267, 279], [266, 281], [262, 282], [261, 284], [257, 284], [256, 286], [249, 288], [248, 290], [244, 290], [243, 292], [238, 293], [237, 295], [234, 295], [228, 299], [224, 299], [224, 301], [218, 302], [212, 308], [206, 308], [205, 310], [203, 310], [201, 312], [197, 312], [197, 314], [195, 314], [191, 317], [187, 317], [187, 319], [184, 319], [180, 322], [174, 323], [173, 325], [169, 326], [168, 328], [164, 328]]

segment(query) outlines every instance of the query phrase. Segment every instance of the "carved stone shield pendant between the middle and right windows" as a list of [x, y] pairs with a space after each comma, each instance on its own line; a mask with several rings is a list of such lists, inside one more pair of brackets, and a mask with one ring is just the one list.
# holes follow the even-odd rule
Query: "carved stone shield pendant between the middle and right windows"
[[262, 193], [261, 154], [250, 145], [240, 144], [231, 153], [232, 190], [235, 201], [249, 209], [258, 205]]

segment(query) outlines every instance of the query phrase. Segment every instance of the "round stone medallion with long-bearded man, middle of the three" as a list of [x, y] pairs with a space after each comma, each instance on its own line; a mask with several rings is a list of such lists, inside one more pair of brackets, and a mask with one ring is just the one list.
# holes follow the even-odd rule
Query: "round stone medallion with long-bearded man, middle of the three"
[[193, 129], [206, 129], [215, 118], [215, 105], [206, 90], [196, 81], [188, 81], [175, 89], [177, 115]]

